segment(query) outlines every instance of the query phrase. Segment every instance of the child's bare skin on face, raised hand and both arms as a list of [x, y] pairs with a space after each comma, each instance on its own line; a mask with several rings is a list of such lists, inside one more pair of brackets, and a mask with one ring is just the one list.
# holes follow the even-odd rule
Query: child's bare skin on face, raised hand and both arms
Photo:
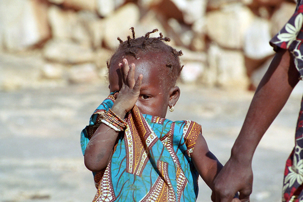
[[[129, 66], [129, 64], [131, 64]], [[136, 60], [132, 56], [122, 56], [113, 60], [109, 67], [109, 89], [120, 90], [111, 110], [124, 118], [136, 104], [142, 114], [165, 118], [167, 107], [177, 103], [180, 89], [169, 84], [165, 78], [168, 72], [165, 54], [148, 53]], [[85, 150], [84, 162], [87, 169], [98, 172], [107, 167], [118, 132], [101, 124]], [[206, 182], [214, 190], [214, 178], [222, 164], [209, 151], [200, 134], [192, 154], [193, 163]]]

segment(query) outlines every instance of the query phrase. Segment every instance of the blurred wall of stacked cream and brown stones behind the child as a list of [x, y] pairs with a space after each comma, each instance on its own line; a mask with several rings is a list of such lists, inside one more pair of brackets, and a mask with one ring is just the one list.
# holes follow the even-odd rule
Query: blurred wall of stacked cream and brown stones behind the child
[[0, 90], [106, 82], [130, 27], [158, 28], [182, 49], [183, 83], [255, 89], [294, 10], [283, 0], [1, 0]]

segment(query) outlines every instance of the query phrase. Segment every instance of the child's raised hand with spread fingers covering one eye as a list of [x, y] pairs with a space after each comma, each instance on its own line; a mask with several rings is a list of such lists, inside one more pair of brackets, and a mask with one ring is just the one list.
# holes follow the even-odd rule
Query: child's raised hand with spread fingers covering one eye
[[132, 63], [129, 68], [126, 59], [123, 59], [119, 66], [122, 75], [122, 87], [111, 110], [123, 119], [135, 106], [139, 98], [143, 76], [139, 75], [137, 81], [135, 81], [135, 64]]

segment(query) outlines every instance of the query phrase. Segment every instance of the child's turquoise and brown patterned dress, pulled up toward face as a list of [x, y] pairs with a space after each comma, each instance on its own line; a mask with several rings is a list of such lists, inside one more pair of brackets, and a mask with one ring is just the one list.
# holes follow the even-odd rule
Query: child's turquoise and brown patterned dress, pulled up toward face
[[[82, 131], [83, 154], [114, 101], [109, 95]], [[196, 201], [199, 175], [191, 154], [201, 126], [142, 115], [136, 105], [126, 121], [107, 168], [94, 173], [98, 190], [93, 201]]]

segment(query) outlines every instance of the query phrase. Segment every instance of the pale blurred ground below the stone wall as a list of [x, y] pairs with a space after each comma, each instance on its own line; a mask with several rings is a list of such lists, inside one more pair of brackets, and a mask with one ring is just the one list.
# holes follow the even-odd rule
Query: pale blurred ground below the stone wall
[[[171, 120], [194, 120], [224, 164], [253, 93], [180, 85]], [[281, 201], [284, 164], [294, 145], [302, 82], [261, 140], [253, 161], [251, 201]], [[106, 85], [0, 93], [0, 201], [91, 201], [96, 188], [84, 167], [80, 132], [107, 96]], [[274, 104], [274, 103], [273, 103]], [[202, 179], [197, 201], [211, 201]]]

